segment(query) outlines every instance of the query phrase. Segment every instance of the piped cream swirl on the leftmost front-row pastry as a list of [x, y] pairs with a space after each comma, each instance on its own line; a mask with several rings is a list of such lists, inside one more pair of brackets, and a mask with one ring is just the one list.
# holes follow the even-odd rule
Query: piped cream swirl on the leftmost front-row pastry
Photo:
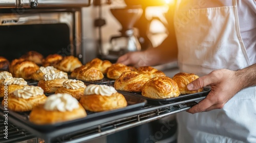
[[38, 86], [25, 86], [23, 89], [13, 91], [13, 94], [17, 98], [29, 99], [31, 97], [43, 95], [44, 90]]

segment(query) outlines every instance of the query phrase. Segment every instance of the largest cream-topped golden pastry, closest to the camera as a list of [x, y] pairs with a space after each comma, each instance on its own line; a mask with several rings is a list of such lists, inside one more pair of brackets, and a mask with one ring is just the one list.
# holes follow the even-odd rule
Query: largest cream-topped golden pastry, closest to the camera
[[86, 110], [68, 93], [49, 96], [45, 104], [32, 109], [29, 121], [37, 125], [54, 124], [86, 117]]

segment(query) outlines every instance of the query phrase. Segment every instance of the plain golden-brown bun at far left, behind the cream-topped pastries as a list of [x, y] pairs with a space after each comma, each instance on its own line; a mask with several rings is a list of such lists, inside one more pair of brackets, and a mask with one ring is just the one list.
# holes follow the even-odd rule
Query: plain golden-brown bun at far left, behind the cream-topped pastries
[[39, 69], [39, 66], [25, 59], [14, 59], [9, 69], [13, 77], [29, 80], [32, 79], [32, 74]]

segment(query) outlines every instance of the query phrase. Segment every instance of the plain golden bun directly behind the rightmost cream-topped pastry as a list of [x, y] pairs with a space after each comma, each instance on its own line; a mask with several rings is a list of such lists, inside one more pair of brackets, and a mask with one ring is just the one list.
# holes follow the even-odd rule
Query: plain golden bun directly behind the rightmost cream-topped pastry
[[82, 65], [74, 69], [71, 73], [71, 77], [85, 81], [97, 81], [102, 80], [104, 75], [97, 67]]

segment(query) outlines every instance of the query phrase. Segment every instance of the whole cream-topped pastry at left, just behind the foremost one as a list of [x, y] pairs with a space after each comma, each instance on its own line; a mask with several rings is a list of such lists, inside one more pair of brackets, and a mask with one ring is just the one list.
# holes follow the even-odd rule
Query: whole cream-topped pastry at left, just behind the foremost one
[[[8, 96], [8, 109], [16, 112], [31, 111], [35, 106], [45, 103], [47, 97], [38, 86], [25, 86], [17, 89]], [[6, 101], [2, 101], [2, 105]]]

